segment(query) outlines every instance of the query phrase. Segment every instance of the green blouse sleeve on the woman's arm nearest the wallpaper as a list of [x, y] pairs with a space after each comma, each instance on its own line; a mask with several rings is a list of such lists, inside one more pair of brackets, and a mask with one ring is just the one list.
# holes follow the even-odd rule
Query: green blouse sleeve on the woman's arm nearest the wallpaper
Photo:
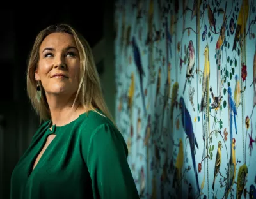
[[140, 198], [127, 163], [127, 146], [113, 126], [101, 124], [95, 129], [86, 162], [94, 198]]

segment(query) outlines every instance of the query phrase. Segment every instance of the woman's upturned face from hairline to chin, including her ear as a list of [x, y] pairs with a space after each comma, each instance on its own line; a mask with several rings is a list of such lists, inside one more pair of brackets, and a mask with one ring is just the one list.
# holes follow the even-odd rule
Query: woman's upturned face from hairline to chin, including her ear
[[39, 62], [35, 72], [46, 96], [74, 94], [79, 85], [80, 57], [72, 35], [49, 34], [39, 49]]

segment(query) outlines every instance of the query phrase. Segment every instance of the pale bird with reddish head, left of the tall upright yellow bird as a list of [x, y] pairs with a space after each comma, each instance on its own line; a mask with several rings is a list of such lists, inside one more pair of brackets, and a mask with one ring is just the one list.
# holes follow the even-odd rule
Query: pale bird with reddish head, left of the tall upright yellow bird
[[189, 41], [188, 49], [189, 49], [188, 66], [187, 66], [186, 82], [185, 82], [185, 85], [184, 85], [183, 94], [185, 92], [187, 82], [189, 81], [189, 79], [191, 77], [193, 77], [192, 72], [193, 72], [193, 69], [194, 69], [194, 66], [195, 66], [195, 49], [194, 49], [194, 45], [193, 45], [192, 40]]

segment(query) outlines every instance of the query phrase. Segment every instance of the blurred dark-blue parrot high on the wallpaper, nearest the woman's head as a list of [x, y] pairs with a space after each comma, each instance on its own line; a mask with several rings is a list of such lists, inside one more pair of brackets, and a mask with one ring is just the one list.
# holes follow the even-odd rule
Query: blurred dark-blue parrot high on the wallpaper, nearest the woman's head
[[144, 95], [144, 92], [143, 92], [143, 77], [145, 77], [145, 72], [142, 68], [140, 50], [139, 50], [139, 47], [136, 43], [136, 39], [135, 39], [134, 36], [132, 36], [132, 49], [133, 49], [134, 62], [136, 64], [137, 70], [138, 70], [139, 75], [140, 75], [140, 89], [141, 89], [141, 96], [142, 96], [142, 101], [143, 101], [143, 108], [144, 108], [145, 114], [147, 114], [146, 103], [145, 103], [145, 95]]

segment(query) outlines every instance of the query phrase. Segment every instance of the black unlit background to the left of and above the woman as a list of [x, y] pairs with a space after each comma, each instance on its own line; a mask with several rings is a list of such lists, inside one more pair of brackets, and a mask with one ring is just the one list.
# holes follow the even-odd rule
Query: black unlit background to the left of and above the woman
[[[33, 4], [20, 4], [15, 8], [14, 3], [10, 3], [9, 6], [2, 4], [0, 198], [10, 198], [12, 170], [27, 149], [39, 125], [38, 116], [26, 94], [26, 63], [36, 34], [51, 24], [65, 22], [83, 34], [93, 48], [102, 38], [109, 38], [113, 34], [113, 2], [86, 1], [82, 2], [82, 6], [76, 1], [62, 2], [58, 5], [53, 5], [51, 1], [34, 1]], [[104, 50], [113, 54], [111, 41], [105, 43]], [[97, 64], [99, 73], [102, 72], [102, 67], [102, 62]]]

